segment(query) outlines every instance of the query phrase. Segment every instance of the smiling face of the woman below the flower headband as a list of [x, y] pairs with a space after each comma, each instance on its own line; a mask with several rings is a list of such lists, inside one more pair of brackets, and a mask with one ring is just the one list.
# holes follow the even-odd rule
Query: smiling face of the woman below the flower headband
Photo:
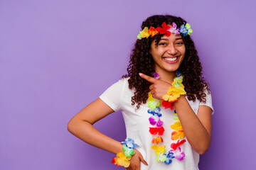
[[161, 37], [159, 43], [151, 43], [150, 54], [155, 62], [156, 72], [175, 72], [185, 57], [186, 47], [181, 35], [171, 33]]

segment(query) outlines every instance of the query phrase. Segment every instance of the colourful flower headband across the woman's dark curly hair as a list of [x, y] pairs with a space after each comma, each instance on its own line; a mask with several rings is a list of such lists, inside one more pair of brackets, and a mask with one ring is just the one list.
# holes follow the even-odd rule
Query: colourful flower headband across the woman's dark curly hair
[[182, 33], [185, 37], [186, 35], [191, 35], [192, 32], [193, 30], [191, 29], [191, 25], [189, 23], [186, 23], [186, 26], [183, 24], [181, 28], [177, 28], [176, 23], [172, 23], [172, 27], [166, 25], [166, 23], [162, 23], [161, 27], [157, 28], [152, 26], [150, 26], [150, 28], [145, 27], [143, 30], [139, 31], [137, 38], [142, 40], [142, 38], [149, 38], [150, 35], [152, 38], [154, 35], [158, 35], [159, 33], [168, 37], [171, 35], [171, 33], [174, 33], [174, 35]]

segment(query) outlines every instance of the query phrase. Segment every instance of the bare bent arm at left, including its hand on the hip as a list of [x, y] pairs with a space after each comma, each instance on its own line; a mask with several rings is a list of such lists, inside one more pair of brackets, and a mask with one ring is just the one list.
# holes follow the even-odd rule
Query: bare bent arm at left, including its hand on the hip
[[[97, 98], [69, 121], [68, 131], [92, 146], [114, 154], [122, 152], [120, 142], [102, 134], [93, 127], [94, 123], [113, 112], [110, 106], [107, 106], [104, 101]], [[140, 166], [140, 162], [146, 164], [142, 154], [138, 152], [137, 149], [134, 149], [134, 152], [135, 154], [131, 159], [131, 164], [128, 169], [137, 169]]]

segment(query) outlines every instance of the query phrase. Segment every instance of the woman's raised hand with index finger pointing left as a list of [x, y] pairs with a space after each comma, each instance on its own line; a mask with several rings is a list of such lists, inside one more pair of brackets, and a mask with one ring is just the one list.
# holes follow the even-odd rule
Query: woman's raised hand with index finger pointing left
[[149, 86], [149, 90], [153, 98], [161, 100], [164, 95], [167, 94], [171, 84], [166, 81], [162, 81], [159, 79], [154, 79], [153, 77], [146, 76], [145, 74], [139, 73], [139, 76], [147, 81], [151, 82], [151, 86]]

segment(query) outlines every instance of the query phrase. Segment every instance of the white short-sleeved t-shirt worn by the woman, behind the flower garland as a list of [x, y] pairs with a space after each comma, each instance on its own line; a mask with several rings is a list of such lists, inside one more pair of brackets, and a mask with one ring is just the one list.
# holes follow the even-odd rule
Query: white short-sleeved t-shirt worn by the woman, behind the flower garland
[[[124, 117], [125, 128], [127, 132], [127, 137], [132, 138], [135, 143], [138, 145], [136, 148], [139, 152], [141, 152], [142, 156], [149, 164], [148, 166], [141, 163], [141, 170], [161, 170], [161, 169], [175, 169], [175, 170], [196, 170], [198, 169], [199, 162], [199, 154], [194, 151], [191, 145], [186, 141], [181, 145], [181, 151], [184, 152], [185, 157], [183, 160], [178, 161], [177, 159], [172, 159], [171, 164], [166, 165], [164, 162], [156, 162], [156, 154], [153, 149], [151, 149], [152, 140], [154, 137], [158, 137], [156, 135], [151, 135], [149, 132], [149, 127], [153, 127], [149, 123], [149, 118], [151, 114], [147, 111], [149, 110], [149, 106], [146, 104], [142, 104], [140, 108], [135, 111], [137, 104], [135, 103], [132, 106], [131, 98], [134, 96], [134, 90], [129, 89], [128, 79], [120, 79], [117, 83], [113, 84], [108, 88], [100, 98], [102, 101], [107, 103], [110, 108], [114, 111], [122, 111], [122, 115]], [[206, 96], [206, 103], [201, 103], [196, 100], [188, 101], [191, 108], [195, 113], [198, 112], [198, 107], [200, 105], [209, 106], [212, 109], [213, 106], [211, 95], [208, 94]], [[164, 109], [163, 106], [159, 106], [161, 108], [161, 120], [164, 121], [164, 135], [161, 137], [164, 139], [164, 142], [161, 145], [166, 145], [166, 152], [171, 149], [171, 143], [176, 143], [178, 140], [171, 140], [171, 132], [174, 130], [170, 128], [170, 125], [173, 125], [176, 120], [174, 120], [174, 111], [171, 111], [170, 108]], [[186, 140], [186, 137], [183, 139]], [[160, 145], [160, 144], [159, 144]]]

